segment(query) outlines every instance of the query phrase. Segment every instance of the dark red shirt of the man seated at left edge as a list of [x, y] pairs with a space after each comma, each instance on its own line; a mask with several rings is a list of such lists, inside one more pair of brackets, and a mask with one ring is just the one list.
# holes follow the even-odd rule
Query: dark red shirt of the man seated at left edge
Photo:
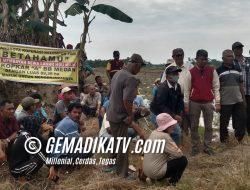
[[7, 139], [18, 130], [19, 126], [15, 117], [4, 120], [0, 114], [0, 139]]

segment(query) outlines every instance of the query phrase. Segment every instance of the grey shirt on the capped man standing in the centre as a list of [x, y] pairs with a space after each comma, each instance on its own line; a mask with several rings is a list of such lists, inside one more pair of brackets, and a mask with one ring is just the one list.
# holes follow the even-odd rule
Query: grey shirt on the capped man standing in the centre
[[128, 116], [123, 101], [133, 103], [137, 87], [138, 80], [126, 69], [118, 71], [113, 76], [110, 86], [110, 104], [107, 109], [108, 121], [120, 123]]

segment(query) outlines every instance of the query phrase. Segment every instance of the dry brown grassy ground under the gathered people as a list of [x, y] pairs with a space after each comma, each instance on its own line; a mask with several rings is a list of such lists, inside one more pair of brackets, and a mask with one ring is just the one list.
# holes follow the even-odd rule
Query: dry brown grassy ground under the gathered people
[[[102, 74], [97, 70], [97, 74]], [[160, 75], [159, 70], [143, 69], [139, 78], [142, 81], [141, 93], [150, 99], [152, 84], [155, 78]], [[93, 78], [90, 79], [93, 81]], [[145, 125], [141, 122], [141, 126]], [[98, 125], [96, 119], [86, 121], [86, 136], [96, 136]], [[148, 131], [145, 131], [148, 133]], [[133, 146], [133, 144], [131, 145]], [[67, 169], [60, 172], [58, 184], [47, 180], [48, 169], [43, 167], [34, 178], [26, 184], [18, 184], [10, 176], [7, 164], [0, 166], [0, 189], [83, 189], [83, 190], [250, 190], [250, 137], [246, 137], [244, 144], [238, 144], [233, 135], [227, 146], [219, 142], [213, 144], [216, 154], [207, 156], [199, 154], [190, 157], [190, 137], [185, 137], [182, 149], [188, 157], [188, 167], [183, 178], [176, 187], [169, 187], [165, 182], [142, 183], [137, 181], [126, 181], [116, 177], [114, 174], [102, 172], [100, 166], [86, 165], [79, 168]], [[101, 155], [95, 155], [96, 158]], [[138, 169], [141, 165], [140, 155], [131, 154], [130, 164]]]

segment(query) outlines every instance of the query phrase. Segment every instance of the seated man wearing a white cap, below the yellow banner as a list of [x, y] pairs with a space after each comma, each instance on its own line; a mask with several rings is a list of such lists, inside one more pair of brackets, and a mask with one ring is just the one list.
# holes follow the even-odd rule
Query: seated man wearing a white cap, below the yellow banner
[[56, 103], [53, 119], [54, 125], [67, 116], [68, 105], [71, 101], [76, 99], [75, 92], [70, 87], [63, 88], [61, 93], [63, 94], [63, 100], [59, 100]]

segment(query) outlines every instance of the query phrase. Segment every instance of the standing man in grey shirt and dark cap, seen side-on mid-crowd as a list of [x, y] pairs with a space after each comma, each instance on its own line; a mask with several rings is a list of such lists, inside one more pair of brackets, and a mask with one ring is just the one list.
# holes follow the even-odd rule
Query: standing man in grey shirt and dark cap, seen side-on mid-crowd
[[[110, 104], [107, 110], [107, 120], [110, 122], [111, 134], [117, 137], [128, 138], [128, 127], [133, 121], [133, 101], [136, 97], [138, 80], [134, 77], [140, 72], [143, 59], [138, 54], [133, 54], [126, 68], [118, 71], [111, 81]], [[119, 153], [116, 157], [116, 173], [119, 176], [128, 176], [128, 152]]]

